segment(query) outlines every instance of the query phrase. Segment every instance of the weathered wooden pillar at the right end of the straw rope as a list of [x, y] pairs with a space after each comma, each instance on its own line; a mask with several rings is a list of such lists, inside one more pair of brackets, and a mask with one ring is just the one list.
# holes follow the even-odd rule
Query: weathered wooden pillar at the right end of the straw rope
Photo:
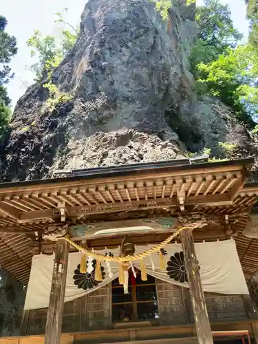
[[200, 271], [195, 253], [192, 231], [186, 229], [182, 230], [181, 240], [198, 343], [212, 344], [213, 335], [211, 333], [211, 325], [208, 319], [204, 291], [202, 290]]

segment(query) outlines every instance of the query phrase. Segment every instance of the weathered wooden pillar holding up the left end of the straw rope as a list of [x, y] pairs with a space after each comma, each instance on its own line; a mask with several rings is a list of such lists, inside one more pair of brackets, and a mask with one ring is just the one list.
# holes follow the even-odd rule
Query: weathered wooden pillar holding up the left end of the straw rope
[[56, 242], [50, 304], [45, 325], [45, 344], [60, 344], [68, 254], [69, 243], [65, 240], [58, 240]]

